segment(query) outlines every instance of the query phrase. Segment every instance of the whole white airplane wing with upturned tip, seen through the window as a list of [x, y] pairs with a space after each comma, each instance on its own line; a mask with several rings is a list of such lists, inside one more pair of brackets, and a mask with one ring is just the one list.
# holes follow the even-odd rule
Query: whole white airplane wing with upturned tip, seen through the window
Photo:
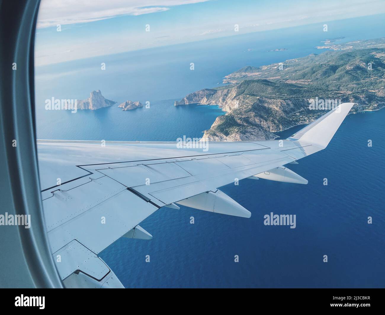
[[243, 178], [306, 184], [284, 165], [324, 149], [353, 107], [343, 103], [286, 140], [105, 142], [38, 140], [50, 247], [66, 287], [122, 287], [97, 255], [178, 204], [249, 218], [218, 187]]

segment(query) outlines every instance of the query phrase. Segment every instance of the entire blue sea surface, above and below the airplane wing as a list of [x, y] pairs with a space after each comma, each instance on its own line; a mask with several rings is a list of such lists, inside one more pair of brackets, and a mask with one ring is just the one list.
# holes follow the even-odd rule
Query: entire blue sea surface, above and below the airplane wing
[[[328, 22], [327, 33], [322, 25], [307, 25], [37, 67], [37, 136], [201, 137], [224, 112], [217, 106], [174, 107], [174, 100], [218, 86], [224, 75], [246, 65], [320, 53], [315, 46], [326, 38], [383, 37], [384, 21], [383, 15], [355, 18]], [[288, 50], [268, 52], [276, 48]], [[106, 70], [100, 70], [101, 62]], [[97, 89], [118, 103], [77, 113], [44, 109], [46, 99], [84, 99]], [[150, 108], [122, 112], [117, 105], [125, 100], [149, 101]], [[326, 150], [290, 165], [308, 185], [244, 179], [239, 186], [221, 187], [251, 218], [183, 206], [160, 209], [141, 223], [151, 241], [119, 239], [100, 257], [126, 287], [384, 287], [385, 110], [350, 115], [345, 123]], [[286, 138], [300, 128], [280, 135]], [[271, 212], [295, 214], [296, 228], [265, 226], [263, 216]]]

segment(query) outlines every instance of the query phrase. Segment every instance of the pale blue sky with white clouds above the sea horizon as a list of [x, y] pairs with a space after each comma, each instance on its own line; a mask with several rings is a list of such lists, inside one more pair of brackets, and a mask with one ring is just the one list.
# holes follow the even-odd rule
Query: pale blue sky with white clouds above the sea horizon
[[42, 0], [35, 65], [380, 13], [384, 0]]

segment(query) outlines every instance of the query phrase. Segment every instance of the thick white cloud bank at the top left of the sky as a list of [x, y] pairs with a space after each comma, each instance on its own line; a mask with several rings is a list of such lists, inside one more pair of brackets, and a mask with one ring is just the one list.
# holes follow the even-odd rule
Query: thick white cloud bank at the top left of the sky
[[87, 23], [122, 15], [141, 15], [208, 0], [42, 0], [37, 28]]

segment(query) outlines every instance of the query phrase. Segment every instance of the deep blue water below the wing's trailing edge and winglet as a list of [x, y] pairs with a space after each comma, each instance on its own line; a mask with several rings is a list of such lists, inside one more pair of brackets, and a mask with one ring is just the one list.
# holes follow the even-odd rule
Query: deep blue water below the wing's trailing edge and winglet
[[[384, 122], [385, 110], [348, 116], [323, 153], [289, 165], [308, 185], [222, 187], [249, 219], [164, 208], [141, 223], [151, 241], [119, 239], [100, 256], [126, 287], [384, 287]], [[270, 212], [296, 214], [296, 228], [265, 226]]]

